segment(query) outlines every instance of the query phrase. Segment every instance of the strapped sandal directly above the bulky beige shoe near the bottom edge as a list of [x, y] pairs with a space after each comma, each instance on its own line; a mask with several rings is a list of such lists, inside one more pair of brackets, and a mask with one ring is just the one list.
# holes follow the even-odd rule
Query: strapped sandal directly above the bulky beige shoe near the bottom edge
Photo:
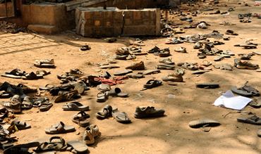
[[72, 121], [75, 124], [79, 124], [80, 127], [87, 127], [90, 124], [89, 120], [87, 120], [88, 118], [90, 118], [90, 115], [84, 111], [80, 111], [79, 113], [73, 115]]

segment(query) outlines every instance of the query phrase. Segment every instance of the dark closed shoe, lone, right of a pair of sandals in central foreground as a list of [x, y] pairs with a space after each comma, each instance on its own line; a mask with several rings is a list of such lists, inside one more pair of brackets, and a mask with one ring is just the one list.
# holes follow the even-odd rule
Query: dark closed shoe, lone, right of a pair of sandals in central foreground
[[155, 109], [154, 107], [137, 107], [134, 113], [135, 118], [141, 119], [145, 117], [162, 117], [165, 111]]

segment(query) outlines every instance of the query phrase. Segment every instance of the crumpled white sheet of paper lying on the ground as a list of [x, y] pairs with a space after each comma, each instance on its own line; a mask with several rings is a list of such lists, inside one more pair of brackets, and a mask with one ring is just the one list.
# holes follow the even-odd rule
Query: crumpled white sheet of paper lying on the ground
[[232, 91], [226, 91], [225, 94], [221, 95], [214, 101], [215, 106], [221, 106], [224, 108], [231, 108], [234, 110], [243, 110], [252, 99], [243, 96], [234, 96]]

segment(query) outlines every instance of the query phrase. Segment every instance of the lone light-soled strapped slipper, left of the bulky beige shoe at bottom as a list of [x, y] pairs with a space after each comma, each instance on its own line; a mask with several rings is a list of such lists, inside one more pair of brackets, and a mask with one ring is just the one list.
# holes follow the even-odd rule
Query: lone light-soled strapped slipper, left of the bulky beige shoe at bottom
[[69, 133], [73, 131], [75, 131], [75, 127], [71, 125], [66, 125], [63, 122], [59, 122], [45, 129], [46, 134], [63, 134], [63, 133]]

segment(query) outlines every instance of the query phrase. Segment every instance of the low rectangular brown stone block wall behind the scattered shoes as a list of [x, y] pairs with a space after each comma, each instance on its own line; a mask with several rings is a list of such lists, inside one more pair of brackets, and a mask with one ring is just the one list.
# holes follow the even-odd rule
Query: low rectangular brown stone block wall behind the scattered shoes
[[75, 20], [76, 33], [84, 37], [158, 35], [160, 31], [160, 11], [156, 8], [77, 8]]

